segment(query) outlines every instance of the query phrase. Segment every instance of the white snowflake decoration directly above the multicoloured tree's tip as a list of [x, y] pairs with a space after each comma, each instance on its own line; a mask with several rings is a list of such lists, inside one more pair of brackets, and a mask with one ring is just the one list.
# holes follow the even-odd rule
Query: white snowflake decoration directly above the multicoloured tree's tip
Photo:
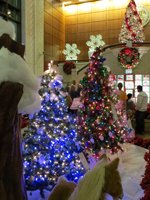
[[105, 45], [104, 40], [102, 40], [102, 36], [99, 35], [91, 35], [90, 40], [86, 42], [87, 46], [89, 46], [89, 51], [94, 51], [96, 47], [102, 47]]

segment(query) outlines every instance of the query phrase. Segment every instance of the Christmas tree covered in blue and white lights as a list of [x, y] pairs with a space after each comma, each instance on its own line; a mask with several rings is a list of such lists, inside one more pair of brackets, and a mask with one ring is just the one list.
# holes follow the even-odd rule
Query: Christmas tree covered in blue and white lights
[[76, 119], [68, 115], [62, 77], [41, 77], [41, 109], [30, 116], [24, 132], [24, 170], [27, 190], [51, 190], [59, 176], [77, 182], [85, 173], [76, 141]]

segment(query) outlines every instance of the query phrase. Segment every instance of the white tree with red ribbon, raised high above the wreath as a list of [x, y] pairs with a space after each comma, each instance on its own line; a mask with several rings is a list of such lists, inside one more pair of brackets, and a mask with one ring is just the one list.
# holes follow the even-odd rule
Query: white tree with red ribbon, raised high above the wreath
[[126, 9], [125, 19], [119, 34], [119, 42], [143, 42], [143, 40], [142, 20], [138, 14], [135, 1], [131, 0]]

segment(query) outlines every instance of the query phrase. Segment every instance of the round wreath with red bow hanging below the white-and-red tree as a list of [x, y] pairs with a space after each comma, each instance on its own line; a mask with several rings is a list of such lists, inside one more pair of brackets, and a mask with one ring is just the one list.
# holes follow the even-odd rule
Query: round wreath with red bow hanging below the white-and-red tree
[[139, 63], [140, 53], [138, 49], [133, 47], [125, 47], [121, 49], [118, 54], [118, 61], [123, 65], [124, 68], [132, 69], [135, 68]]

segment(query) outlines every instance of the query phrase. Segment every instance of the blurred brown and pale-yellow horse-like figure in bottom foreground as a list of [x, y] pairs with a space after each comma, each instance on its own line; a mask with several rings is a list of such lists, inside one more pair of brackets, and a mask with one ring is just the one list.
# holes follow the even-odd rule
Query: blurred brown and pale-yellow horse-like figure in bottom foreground
[[123, 189], [119, 171], [119, 158], [108, 163], [98, 163], [76, 185], [65, 179], [58, 181], [48, 200], [113, 200], [122, 199]]

